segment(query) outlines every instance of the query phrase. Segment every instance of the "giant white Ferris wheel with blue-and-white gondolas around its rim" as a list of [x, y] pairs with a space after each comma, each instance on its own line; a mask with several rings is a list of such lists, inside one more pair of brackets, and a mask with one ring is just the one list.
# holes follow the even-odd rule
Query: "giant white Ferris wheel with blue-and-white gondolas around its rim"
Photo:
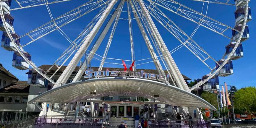
[[[115, 35], [127, 31], [128, 34], [125, 35], [127, 40], [123, 41], [122, 45], [130, 50], [129, 54], [125, 54], [130, 59], [125, 61], [136, 60], [134, 71], [136, 71], [136, 66], [152, 63], [160, 75], [165, 75], [163, 69], [168, 71], [174, 86], [191, 91], [213, 78], [233, 74], [232, 60], [243, 57], [242, 42], [250, 37], [246, 25], [251, 20], [249, 2], [250, 0], [235, 0], [234, 2], [231, 0], [1, 0], [0, 29], [3, 31], [1, 46], [14, 52], [13, 66], [15, 68], [28, 70], [31, 66], [40, 77], [47, 79], [55, 84], [54, 87], [57, 87], [68, 81], [79, 63], [80, 68], [76, 71], [72, 81], [80, 80], [92, 61], [98, 62], [98, 65], [94, 66], [99, 66], [99, 71], [106, 63], [122, 65], [121, 56], [124, 55], [114, 55], [110, 46], [117, 43], [114, 41]], [[66, 8], [61, 8], [62, 6]], [[211, 6], [214, 10], [211, 10]], [[235, 19], [221, 20], [225, 19], [225, 15], [227, 18], [233, 16], [233, 13], [223, 13], [222, 8], [226, 7], [233, 8]], [[43, 15], [45, 13], [40, 12], [43, 9], [49, 14], [48, 18]], [[33, 13], [33, 11], [38, 11], [36, 13], [39, 18], [31, 16], [32, 22], [28, 25], [34, 28], [23, 30], [24, 27], [20, 24], [15, 25], [14, 21], [19, 21], [15, 19], [15, 16], [26, 12]], [[81, 18], [85, 21], [79, 21]], [[76, 36], [63, 29], [76, 22], [86, 24], [79, 27], [82, 31], [79, 31]], [[57, 32], [59, 36], [55, 36]], [[214, 39], [200, 41], [198, 33], [209, 33], [213, 37], [221, 37], [226, 47], [210, 53], [209, 49], [206, 50], [202, 46], [203, 43], [216, 42], [212, 41]], [[136, 52], [142, 47], [138, 48], [136, 36], [139, 34], [141, 37], [139, 42], [144, 43], [150, 57], [138, 57], [142, 54]], [[31, 59], [31, 56], [33, 57], [31, 49], [27, 48], [29, 45], [36, 45], [38, 41], [44, 41], [44, 37], [49, 35], [55, 36], [53, 42], [59, 45], [64, 43], [59, 38], [65, 39], [66, 44], [69, 44], [50, 66], [50, 69], [57, 68], [55, 71], [57, 73], [63, 65], [68, 65], [57, 81], [52, 79], [55, 73], [50, 77], [46, 75], [50, 69], [43, 71], [37, 67], [37, 62]], [[171, 41], [171, 44], [169, 39], [175, 39], [175, 41]], [[100, 48], [102, 45], [104, 49]], [[37, 47], [37, 49], [40, 48]], [[180, 49], [186, 49], [198, 59], [198, 63], [208, 69], [203, 80], [192, 88], [188, 88], [179, 70], [180, 66], [172, 57], [173, 53], [179, 52]], [[212, 54], [221, 52], [222, 49], [224, 55], [215, 57]], [[40, 55], [46, 54], [40, 53]]]

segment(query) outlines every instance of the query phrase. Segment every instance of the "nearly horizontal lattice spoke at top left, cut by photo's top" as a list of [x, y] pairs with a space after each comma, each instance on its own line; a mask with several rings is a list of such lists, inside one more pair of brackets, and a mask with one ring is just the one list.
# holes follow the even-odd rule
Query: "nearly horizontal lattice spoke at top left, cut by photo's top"
[[26, 0], [26, 1], [20, 1], [20, 2], [18, 0], [15, 0], [15, 1], [16, 3], [18, 3], [19, 8], [11, 8], [10, 11], [25, 9], [25, 8], [32, 8], [36, 6], [42, 6], [42, 5], [50, 5], [54, 3], [68, 2], [71, 0], [51, 0], [52, 2], [44, 2], [44, 0]]

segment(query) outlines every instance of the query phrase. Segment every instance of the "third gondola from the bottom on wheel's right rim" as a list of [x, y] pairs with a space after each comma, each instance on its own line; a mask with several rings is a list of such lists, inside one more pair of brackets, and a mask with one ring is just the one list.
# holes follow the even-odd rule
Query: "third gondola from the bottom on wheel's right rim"
[[[232, 42], [230, 44], [228, 44], [226, 46], [226, 54], [227, 56], [230, 55], [230, 53], [232, 52], [233, 48], [235, 47], [235, 43], [236, 42]], [[239, 58], [243, 57], [243, 45], [242, 43], [240, 43], [235, 51], [235, 53], [232, 55], [232, 57], [230, 58], [231, 60], [237, 60]]]

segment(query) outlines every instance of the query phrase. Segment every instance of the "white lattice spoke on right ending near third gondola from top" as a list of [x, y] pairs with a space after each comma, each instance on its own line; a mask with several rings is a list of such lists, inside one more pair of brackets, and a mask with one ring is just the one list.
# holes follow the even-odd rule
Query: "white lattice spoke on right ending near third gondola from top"
[[204, 28], [207, 28], [217, 34], [227, 37], [228, 39], [232, 39], [231, 37], [228, 37], [224, 34], [224, 32], [228, 29], [241, 33], [241, 31], [238, 31], [237, 29], [234, 29], [224, 23], [221, 23], [213, 18], [210, 18], [209, 16], [199, 13], [198, 11], [188, 8], [185, 5], [182, 5], [174, 0], [157, 0], [159, 2], [154, 3], [152, 0], [147, 1], [151, 2], [154, 5], [158, 5], [168, 11], [171, 11], [183, 18], [186, 18], [196, 24], [199, 24], [200, 26], [203, 26]]

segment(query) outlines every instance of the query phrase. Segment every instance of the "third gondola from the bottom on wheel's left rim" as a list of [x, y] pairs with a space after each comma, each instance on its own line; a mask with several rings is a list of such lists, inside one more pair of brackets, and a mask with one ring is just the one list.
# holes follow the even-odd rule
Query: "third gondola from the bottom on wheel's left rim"
[[[16, 39], [18, 38], [19, 36], [14, 33], [14, 32], [11, 32], [11, 36], [13, 37], [13, 39]], [[8, 34], [6, 32], [3, 32], [3, 36], [2, 36], [2, 43], [1, 43], [1, 47], [3, 47], [4, 49], [8, 50], [8, 51], [16, 51], [15, 49], [15, 44], [13, 44], [13, 42], [11, 42], [11, 39], [8, 37]], [[20, 42], [20, 39], [16, 40], [15, 43], [16, 45], [19, 46], [19, 42]]]

